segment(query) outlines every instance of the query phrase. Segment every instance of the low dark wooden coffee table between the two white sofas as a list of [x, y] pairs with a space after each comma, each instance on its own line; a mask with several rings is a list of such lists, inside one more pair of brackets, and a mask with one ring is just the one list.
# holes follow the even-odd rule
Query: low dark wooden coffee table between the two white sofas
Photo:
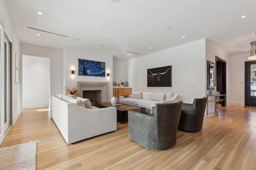
[[122, 104], [121, 106], [112, 106], [110, 102], [98, 103], [98, 107], [116, 107], [117, 110], [117, 121], [120, 123], [128, 122], [128, 111], [134, 110], [140, 113], [145, 113], [145, 107], [134, 106], [129, 104]]

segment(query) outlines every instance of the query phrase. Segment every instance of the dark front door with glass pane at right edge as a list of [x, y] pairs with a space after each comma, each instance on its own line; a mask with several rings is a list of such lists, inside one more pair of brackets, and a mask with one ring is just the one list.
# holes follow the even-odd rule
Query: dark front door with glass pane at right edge
[[256, 106], [256, 61], [245, 62], [245, 106]]

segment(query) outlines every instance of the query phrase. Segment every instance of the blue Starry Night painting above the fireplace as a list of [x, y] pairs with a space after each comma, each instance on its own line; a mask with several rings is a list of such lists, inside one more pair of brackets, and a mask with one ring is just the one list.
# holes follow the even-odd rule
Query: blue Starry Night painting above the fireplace
[[78, 59], [78, 76], [105, 77], [105, 63]]

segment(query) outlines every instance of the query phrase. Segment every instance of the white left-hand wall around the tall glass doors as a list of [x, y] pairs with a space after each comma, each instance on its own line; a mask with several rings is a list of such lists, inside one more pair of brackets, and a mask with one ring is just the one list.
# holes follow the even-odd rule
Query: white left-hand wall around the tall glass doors
[[[14, 26], [14, 23], [12, 21], [12, 17], [10, 16], [10, 12], [8, 10], [8, 6], [6, 4], [6, 1], [0, 0], [0, 22], [2, 23], [5, 33], [8, 35], [11, 43], [12, 43], [12, 124], [14, 124], [20, 115], [20, 84], [15, 83], [15, 53], [19, 54], [20, 53], [20, 48], [19, 48], [19, 38], [16, 33], [16, 29]], [[3, 30], [4, 31], [4, 30]], [[3, 36], [3, 35], [2, 35]], [[0, 39], [2, 41], [0, 44], [3, 45], [3, 39]], [[2, 47], [0, 47], [2, 48]], [[2, 63], [2, 50], [1, 55], [0, 55], [0, 64], [1, 68], [3, 68], [4, 63]], [[4, 79], [2, 77], [2, 71], [0, 71], [0, 89], [3, 90], [2, 84], [4, 84]], [[1, 91], [0, 90], [0, 91]], [[4, 139], [4, 132], [3, 130], [3, 124], [4, 124], [4, 119], [2, 116], [2, 101], [4, 100], [4, 96], [0, 92], [0, 144], [2, 143]]]

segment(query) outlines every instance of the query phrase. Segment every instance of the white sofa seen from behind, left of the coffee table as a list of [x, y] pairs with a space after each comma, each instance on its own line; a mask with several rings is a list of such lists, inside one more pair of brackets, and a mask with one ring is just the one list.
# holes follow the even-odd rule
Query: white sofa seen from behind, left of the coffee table
[[68, 144], [116, 131], [116, 107], [88, 109], [84, 104], [86, 100], [82, 98], [51, 96], [52, 120]]

